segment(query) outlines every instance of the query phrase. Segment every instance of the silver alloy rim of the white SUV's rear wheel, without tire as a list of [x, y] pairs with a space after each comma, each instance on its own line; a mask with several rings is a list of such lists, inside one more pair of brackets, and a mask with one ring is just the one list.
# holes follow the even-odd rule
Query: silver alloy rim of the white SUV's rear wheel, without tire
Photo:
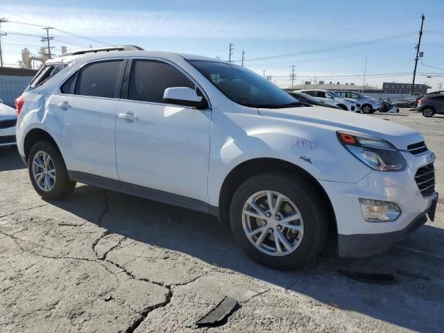
[[33, 158], [33, 177], [42, 191], [49, 192], [56, 185], [56, 167], [48, 153], [38, 151]]

